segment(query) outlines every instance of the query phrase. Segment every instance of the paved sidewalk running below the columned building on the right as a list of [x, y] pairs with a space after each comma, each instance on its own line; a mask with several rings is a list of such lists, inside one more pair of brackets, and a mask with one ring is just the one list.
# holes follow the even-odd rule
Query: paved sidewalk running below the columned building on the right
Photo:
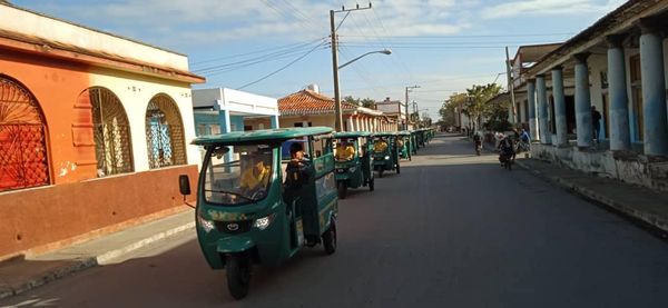
[[561, 168], [547, 161], [523, 158], [523, 155], [518, 155], [515, 162], [543, 179], [641, 221], [664, 236], [668, 234], [668, 192]]

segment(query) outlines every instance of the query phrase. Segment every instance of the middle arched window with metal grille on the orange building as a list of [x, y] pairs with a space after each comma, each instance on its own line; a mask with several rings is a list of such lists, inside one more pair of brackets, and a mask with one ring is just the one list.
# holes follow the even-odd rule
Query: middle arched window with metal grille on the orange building
[[130, 125], [122, 103], [106, 88], [90, 88], [81, 95], [90, 100], [98, 176], [131, 172]]

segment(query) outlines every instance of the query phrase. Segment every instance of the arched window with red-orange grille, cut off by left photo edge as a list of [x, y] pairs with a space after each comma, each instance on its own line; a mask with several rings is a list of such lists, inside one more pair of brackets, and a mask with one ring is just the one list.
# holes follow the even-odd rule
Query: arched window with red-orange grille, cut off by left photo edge
[[0, 191], [49, 183], [46, 123], [37, 99], [0, 74]]

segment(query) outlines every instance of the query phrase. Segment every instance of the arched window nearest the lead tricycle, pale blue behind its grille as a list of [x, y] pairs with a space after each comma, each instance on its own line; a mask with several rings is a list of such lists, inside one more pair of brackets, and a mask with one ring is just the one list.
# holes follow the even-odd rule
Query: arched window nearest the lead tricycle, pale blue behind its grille
[[186, 163], [184, 125], [176, 102], [157, 95], [146, 109], [146, 140], [151, 169]]

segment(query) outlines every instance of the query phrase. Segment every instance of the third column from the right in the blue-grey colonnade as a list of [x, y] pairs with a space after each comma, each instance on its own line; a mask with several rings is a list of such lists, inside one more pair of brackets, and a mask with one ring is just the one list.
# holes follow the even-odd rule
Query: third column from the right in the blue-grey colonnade
[[578, 53], [576, 58], [576, 126], [578, 129], [578, 147], [589, 148], [593, 143], [591, 123], [591, 96], [589, 93], [588, 52]]

